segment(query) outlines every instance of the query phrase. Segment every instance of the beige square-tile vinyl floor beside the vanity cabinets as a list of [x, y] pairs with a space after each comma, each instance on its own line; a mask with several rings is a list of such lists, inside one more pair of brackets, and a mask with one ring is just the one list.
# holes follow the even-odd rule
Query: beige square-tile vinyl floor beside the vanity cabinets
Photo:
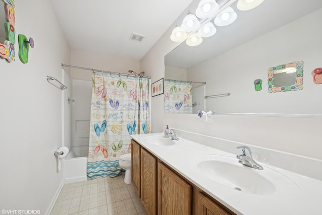
[[132, 184], [123, 179], [121, 174], [64, 184], [50, 214], [146, 214]]

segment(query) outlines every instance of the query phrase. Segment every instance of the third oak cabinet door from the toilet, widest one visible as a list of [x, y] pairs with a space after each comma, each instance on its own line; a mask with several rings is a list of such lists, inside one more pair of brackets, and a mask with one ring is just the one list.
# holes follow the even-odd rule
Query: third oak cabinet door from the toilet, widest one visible
[[158, 214], [191, 214], [191, 185], [162, 163], [157, 174]]

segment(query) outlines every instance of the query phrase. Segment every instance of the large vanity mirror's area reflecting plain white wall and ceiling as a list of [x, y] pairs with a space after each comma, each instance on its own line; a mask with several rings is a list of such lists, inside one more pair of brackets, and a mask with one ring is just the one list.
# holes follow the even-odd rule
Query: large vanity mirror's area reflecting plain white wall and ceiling
[[[186, 11], [194, 12], [199, 2]], [[232, 24], [216, 26], [216, 34], [200, 45], [184, 41], [165, 56], [165, 80], [206, 82], [202, 94], [191, 96], [204, 104], [197, 109], [216, 114], [322, 114], [312, 108], [322, 105], [322, 86], [310, 75], [322, 66], [322, 1], [266, 0], [250, 11], [239, 11], [236, 3], [230, 7], [237, 14]], [[184, 16], [174, 25], [181, 25]], [[303, 62], [301, 90], [269, 93], [268, 69], [288, 62]], [[294, 85], [294, 75], [286, 76], [291, 77], [287, 83], [274, 86]], [[263, 80], [263, 90], [255, 90], [255, 80]], [[227, 96], [205, 99], [208, 95]]]

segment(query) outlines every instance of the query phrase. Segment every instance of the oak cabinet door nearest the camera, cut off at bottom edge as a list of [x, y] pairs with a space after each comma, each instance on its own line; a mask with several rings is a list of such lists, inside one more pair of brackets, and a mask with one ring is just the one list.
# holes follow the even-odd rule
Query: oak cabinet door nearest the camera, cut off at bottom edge
[[198, 215], [229, 215], [231, 213], [223, 209], [203, 193], [198, 193]]

